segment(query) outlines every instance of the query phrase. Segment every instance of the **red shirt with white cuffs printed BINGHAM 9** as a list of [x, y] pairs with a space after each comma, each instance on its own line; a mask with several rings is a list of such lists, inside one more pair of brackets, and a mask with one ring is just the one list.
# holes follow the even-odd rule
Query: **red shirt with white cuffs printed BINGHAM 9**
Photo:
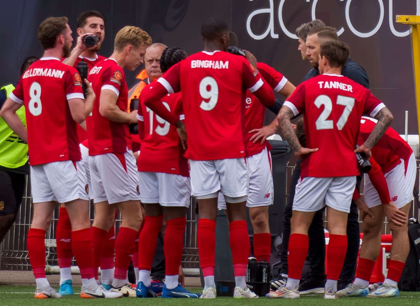
[[245, 157], [245, 95], [263, 81], [246, 58], [223, 51], [198, 52], [157, 80], [168, 93], [182, 90], [186, 157]]

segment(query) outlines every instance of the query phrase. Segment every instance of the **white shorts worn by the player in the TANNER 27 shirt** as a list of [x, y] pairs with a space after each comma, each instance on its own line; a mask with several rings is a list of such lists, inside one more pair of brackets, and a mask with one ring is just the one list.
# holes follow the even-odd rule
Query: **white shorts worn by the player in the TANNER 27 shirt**
[[350, 212], [356, 177], [304, 177], [296, 185], [292, 210], [319, 211], [329, 206]]

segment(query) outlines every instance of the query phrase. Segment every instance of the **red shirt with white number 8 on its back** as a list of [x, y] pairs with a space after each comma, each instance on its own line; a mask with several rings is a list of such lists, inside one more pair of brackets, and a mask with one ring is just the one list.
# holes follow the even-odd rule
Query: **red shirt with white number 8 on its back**
[[31, 165], [80, 161], [77, 124], [67, 102], [84, 99], [76, 69], [58, 58], [41, 58], [22, 74], [10, 98], [25, 104]]

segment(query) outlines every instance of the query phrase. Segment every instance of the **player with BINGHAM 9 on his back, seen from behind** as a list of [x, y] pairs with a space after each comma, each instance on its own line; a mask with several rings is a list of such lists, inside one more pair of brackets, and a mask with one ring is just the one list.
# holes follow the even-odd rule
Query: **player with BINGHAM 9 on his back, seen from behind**
[[[174, 65], [144, 96], [144, 104], [178, 127], [187, 142], [192, 193], [198, 199], [197, 229], [200, 264], [205, 279], [202, 298], [215, 298], [215, 225], [217, 197], [223, 193], [228, 214], [229, 237], [236, 288], [234, 297], [255, 298], [245, 283], [249, 238], [245, 216], [248, 169], [245, 161], [244, 111], [248, 89], [267, 106], [274, 104], [271, 87], [242, 57], [226, 53], [229, 31], [226, 23], [210, 18], [202, 25], [204, 50]], [[182, 92], [185, 126], [158, 99]], [[144, 94], [144, 93], [143, 93]], [[188, 135], [188, 138], [185, 135]]]

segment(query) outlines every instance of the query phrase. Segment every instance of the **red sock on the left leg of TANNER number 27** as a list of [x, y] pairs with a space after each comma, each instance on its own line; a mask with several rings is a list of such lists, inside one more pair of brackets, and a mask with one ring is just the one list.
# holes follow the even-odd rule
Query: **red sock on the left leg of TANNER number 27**
[[300, 280], [302, 269], [309, 249], [309, 237], [303, 234], [291, 234], [287, 249], [287, 264], [289, 265], [289, 278]]

